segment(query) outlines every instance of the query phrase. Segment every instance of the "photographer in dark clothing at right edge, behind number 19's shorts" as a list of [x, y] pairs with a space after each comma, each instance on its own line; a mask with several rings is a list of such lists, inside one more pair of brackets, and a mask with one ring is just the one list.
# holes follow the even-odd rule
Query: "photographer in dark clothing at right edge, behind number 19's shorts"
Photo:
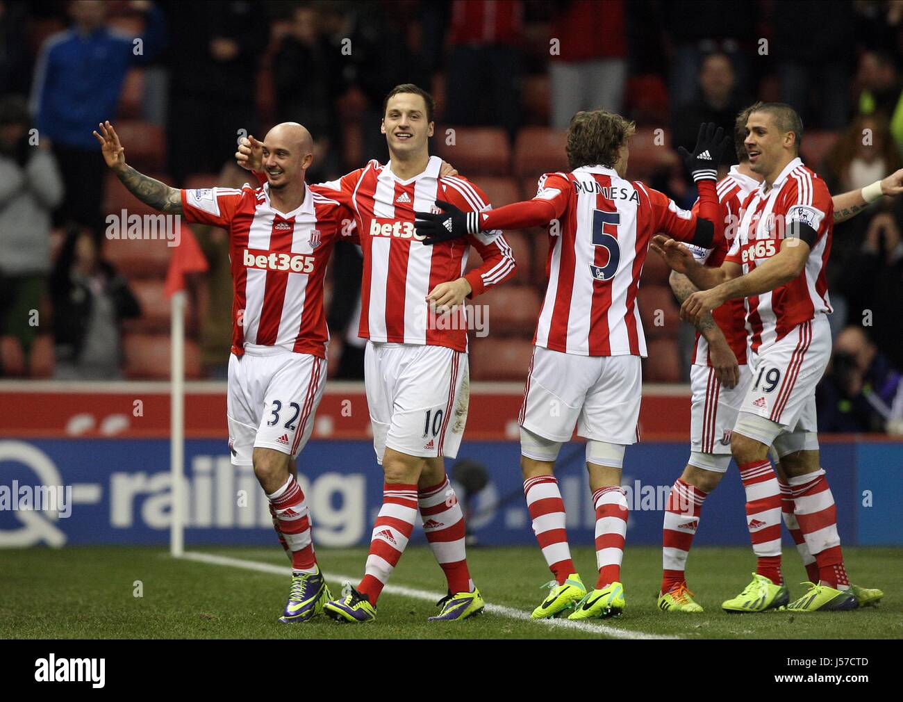
[[903, 428], [903, 376], [859, 326], [837, 335], [816, 398], [820, 432], [898, 434]]

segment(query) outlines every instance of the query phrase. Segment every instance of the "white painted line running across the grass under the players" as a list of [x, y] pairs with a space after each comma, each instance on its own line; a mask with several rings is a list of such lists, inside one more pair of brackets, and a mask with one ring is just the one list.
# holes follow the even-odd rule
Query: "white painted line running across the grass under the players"
[[[209, 563], [213, 566], [232, 566], [235, 568], [244, 568], [245, 570], [255, 570], [258, 573], [270, 573], [276, 576], [292, 575], [292, 568], [289, 566], [275, 566], [271, 563], [261, 563], [259, 561], [248, 561], [244, 558], [230, 558], [228, 556], [215, 556], [209, 553], [200, 553], [198, 551], [189, 551], [183, 556], [186, 560], [198, 561], [200, 563]], [[346, 580], [353, 581], [355, 578], [351, 576], [342, 576], [338, 573], [323, 572], [328, 580], [338, 580], [344, 582]], [[405, 587], [404, 585], [386, 585], [383, 591], [389, 594], [400, 594], [403, 597], [412, 597], [415, 600], [425, 600], [427, 602], [436, 602], [445, 596], [445, 593], [433, 593], [429, 590], [417, 590], [413, 587]], [[617, 629], [609, 624], [590, 623], [590, 622], [571, 622], [567, 619], [531, 619], [530, 615], [514, 607], [506, 607], [501, 604], [487, 604], [486, 612], [490, 614], [498, 614], [508, 619], [519, 619], [524, 622], [535, 622], [544, 624], [556, 629], [570, 629], [575, 632], [593, 633], [600, 636], [610, 636], [614, 639], [680, 639], [679, 636], [669, 636], [666, 634], [631, 632], [628, 629]]]

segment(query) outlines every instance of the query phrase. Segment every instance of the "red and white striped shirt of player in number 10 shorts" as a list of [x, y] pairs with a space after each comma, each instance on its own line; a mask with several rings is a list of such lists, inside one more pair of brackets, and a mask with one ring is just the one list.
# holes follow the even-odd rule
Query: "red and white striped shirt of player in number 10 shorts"
[[[500, 231], [483, 232], [424, 246], [414, 230], [414, 211], [439, 211], [435, 201], [463, 211], [488, 210], [485, 193], [461, 176], [440, 178], [442, 159], [430, 158], [426, 170], [408, 180], [392, 173], [391, 162], [370, 161], [338, 181], [322, 183], [330, 196], [354, 212], [364, 255], [358, 335], [371, 342], [415, 343], [467, 350], [463, 306], [454, 319], [431, 314], [426, 303], [433, 287], [467, 278], [476, 297], [514, 275], [515, 260]], [[470, 246], [481, 266], [466, 276]]]

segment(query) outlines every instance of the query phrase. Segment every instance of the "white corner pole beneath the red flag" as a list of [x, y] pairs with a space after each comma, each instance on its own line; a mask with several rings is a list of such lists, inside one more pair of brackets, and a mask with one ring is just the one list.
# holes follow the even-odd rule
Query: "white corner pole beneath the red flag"
[[170, 340], [170, 470], [172, 471], [172, 523], [170, 524], [170, 555], [182, 557], [185, 548], [185, 300], [179, 290], [172, 295]]

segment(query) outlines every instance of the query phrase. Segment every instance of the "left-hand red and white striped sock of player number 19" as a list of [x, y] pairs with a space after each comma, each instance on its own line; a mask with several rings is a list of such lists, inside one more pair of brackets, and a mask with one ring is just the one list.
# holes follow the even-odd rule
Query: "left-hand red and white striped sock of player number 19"
[[758, 557], [756, 572], [781, 585], [781, 490], [771, 461], [740, 465], [740, 480], [746, 491], [746, 526], [752, 550]]

